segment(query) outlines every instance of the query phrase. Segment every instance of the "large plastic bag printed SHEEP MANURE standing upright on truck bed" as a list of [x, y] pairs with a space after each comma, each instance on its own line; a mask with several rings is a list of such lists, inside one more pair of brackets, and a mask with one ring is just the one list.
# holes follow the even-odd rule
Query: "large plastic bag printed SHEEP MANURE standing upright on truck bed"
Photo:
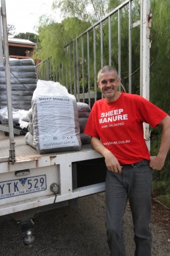
[[32, 97], [34, 148], [39, 153], [80, 150], [78, 107], [58, 82], [38, 80]]

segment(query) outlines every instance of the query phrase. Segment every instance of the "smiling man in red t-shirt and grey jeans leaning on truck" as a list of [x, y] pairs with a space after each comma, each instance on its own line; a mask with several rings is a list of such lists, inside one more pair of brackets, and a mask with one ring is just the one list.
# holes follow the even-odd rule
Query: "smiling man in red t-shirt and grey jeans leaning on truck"
[[[104, 98], [96, 101], [84, 133], [92, 147], [105, 158], [106, 230], [111, 256], [125, 256], [123, 215], [130, 204], [134, 224], [135, 256], [150, 256], [152, 169], [161, 170], [170, 148], [170, 116], [140, 97], [118, 91], [115, 68], [105, 66], [98, 73], [98, 87]], [[162, 126], [156, 156], [144, 140], [143, 122]]]

